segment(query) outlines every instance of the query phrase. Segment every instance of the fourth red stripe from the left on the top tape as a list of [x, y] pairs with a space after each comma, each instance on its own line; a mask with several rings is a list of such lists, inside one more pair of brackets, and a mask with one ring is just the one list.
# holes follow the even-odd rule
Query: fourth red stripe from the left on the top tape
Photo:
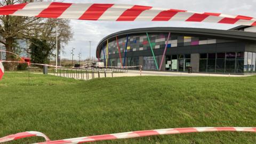
[[151, 6], [134, 5], [127, 9], [116, 21], [134, 21], [143, 11], [151, 9]]

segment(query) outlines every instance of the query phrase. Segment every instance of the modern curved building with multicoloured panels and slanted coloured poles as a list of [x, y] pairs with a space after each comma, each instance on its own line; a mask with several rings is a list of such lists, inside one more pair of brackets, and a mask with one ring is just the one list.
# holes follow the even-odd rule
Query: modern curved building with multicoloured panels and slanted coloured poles
[[106, 66], [179, 72], [192, 67], [194, 73], [251, 74], [256, 73], [255, 31], [250, 26], [130, 29], [103, 38], [96, 56]]

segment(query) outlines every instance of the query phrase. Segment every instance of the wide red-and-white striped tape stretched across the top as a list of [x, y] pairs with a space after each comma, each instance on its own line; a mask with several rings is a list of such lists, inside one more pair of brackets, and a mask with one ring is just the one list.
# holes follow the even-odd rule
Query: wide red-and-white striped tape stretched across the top
[[0, 15], [101, 21], [194, 21], [256, 26], [255, 18], [244, 15], [105, 3], [23, 3], [1, 6]]

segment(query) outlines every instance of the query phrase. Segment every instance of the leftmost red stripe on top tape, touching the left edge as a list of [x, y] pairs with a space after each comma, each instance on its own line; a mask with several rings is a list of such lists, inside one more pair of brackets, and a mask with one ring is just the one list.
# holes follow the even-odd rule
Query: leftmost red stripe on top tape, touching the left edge
[[27, 3], [2, 6], [0, 7], [0, 15], [13, 14], [16, 11], [23, 9], [26, 5]]

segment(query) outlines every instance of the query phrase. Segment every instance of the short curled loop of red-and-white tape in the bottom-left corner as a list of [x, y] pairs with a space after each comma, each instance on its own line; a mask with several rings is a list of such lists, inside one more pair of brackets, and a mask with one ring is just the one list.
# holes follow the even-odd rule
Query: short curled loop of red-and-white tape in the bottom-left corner
[[28, 138], [28, 137], [43, 137], [46, 141], [50, 141], [50, 139], [45, 134], [43, 134], [41, 132], [31, 131], [31, 132], [16, 133], [16, 134], [12, 134], [12, 135], [8, 135], [6, 137], [0, 138], [0, 143], [18, 140], [18, 139], [22, 139], [22, 138]]

